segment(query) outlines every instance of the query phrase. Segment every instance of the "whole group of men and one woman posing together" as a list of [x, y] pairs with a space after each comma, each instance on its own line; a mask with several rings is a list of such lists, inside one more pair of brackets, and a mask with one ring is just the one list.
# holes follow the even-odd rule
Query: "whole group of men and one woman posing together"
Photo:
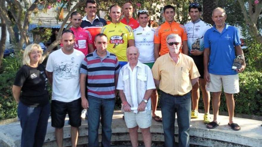
[[[166, 22], [156, 30], [148, 26], [147, 10], [139, 10], [132, 18], [132, 4], [122, 9], [110, 7], [111, 23], [96, 15], [95, 0], [87, 0], [82, 18], [78, 12], [70, 17], [72, 27], [62, 33], [62, 48], [49, 55], [43, 66], [41, 47], [28, 45], [23, 66], [17, 72], [13, 95], [18, 102], [21, 121], [21, 146], [42, 146], [47, 129], [50, 105], [47, 83], [52, 85], [51, 118], [57, 146], [63, 146], [63, 127], [68, 114], [71, 143], [77, 145], [81, 111], [87, 109], [88, 146], [98, 147], [98, 128], [102, 124], [102, 146], [110, 146], [115, 97], [119, 97], [124, 121], [129, 128], [132, 146], [138, 146], [138, 128], [144, 144], [151, 146], [152, 118], [162, 121], [165, 146], [173, 147], [174, 122], [177, 116], [180, 147], [189, 146], [191, 118], [198, 118], [199, 87], [205, 106], [203, 122], [207, 128], [219, 126], [218, 112], [222, 87], [227, 99], [228, 125], [233, 121], [234, 98], [239, 92], [238, 72], [233, 60], [244, 55], [238, 31], [227, 25], [226, 12], [213, 10], [215, 25], [200, 20], [202, 7], [191, 3], [191, 21], [185, 26], [174, 21], [175, 8], [163, 8]], [[122, 11], [124, 19], [120, 20]], [[155, 114], [160, 90], [162, 118]], [[21, 93], [22, 91], [22, 93]], [[210, 93], [213, 94], [213, 121], [209, 114]], [[191, 107], [192, 98], [192, 107]], [[86, 117], [87, 117], [86, 116]]]

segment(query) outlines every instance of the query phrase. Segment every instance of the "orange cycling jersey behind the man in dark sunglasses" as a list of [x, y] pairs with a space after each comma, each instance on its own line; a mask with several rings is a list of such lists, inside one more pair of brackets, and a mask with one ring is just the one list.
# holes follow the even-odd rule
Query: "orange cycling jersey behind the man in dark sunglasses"
[[[187, 40], [185, 27], [183, 25], [176, 22], [163, 23], [156, 29], [154, 37], [154, 43], [160, 44], [160, 56], [169, 52], [169, 49], [166, 45], [166, 37], [171, 33], [178, 34], [181, 37], [182, 41]], [[180, 52], [182, 52], [181, 48]]]

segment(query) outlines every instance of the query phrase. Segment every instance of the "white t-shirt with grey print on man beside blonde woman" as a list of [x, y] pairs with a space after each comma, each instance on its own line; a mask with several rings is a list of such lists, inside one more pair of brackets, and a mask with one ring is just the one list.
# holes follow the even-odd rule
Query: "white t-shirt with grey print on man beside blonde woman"
[[46, 71], [53, 72], [52, 100], [72, 102], [80, 95], [80, 67], [85, 55], [74, 49], [70, 55], [56, 50], [48, 57]]

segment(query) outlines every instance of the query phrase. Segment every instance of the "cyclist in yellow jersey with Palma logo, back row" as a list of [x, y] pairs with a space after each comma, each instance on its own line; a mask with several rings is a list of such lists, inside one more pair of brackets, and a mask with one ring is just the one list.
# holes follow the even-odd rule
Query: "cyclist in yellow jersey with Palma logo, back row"
[[113, 5], [110, 7], [110, 17], [112, 23], [103, 26], [101, 33], [107, 35], [107, 50], [114, 53], [119, 61], [120, 66], [127, 64], [127, 45], [135, 46], [132, 28], [120, 22], [121, 7]]

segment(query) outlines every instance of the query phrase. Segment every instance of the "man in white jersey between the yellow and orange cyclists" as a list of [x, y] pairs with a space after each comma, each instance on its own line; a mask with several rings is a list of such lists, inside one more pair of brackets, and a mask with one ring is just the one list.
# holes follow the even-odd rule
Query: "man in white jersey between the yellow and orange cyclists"
[[[137, 47], [139, 50], [138, 60], [148, 65], [150, 68], [152, 68], [155, 63], [155, 57], [154, 57], [155, 30], [147, 26], [149, 21], [149, 15], [147, 10], [139, 10], [137, 16], [140, 26], [137, 29], [135, 29], [133, 33], [135, 39], [135, 47]], [[160, 118], [155, 114], [155, 111], [157, 110], [157, 101], [158, 101], [158, 94], [156, 89], [153, 90], [151, 99], [152, 99], [152, 118], [157, 122], [161, 122], [162, 118]]]

